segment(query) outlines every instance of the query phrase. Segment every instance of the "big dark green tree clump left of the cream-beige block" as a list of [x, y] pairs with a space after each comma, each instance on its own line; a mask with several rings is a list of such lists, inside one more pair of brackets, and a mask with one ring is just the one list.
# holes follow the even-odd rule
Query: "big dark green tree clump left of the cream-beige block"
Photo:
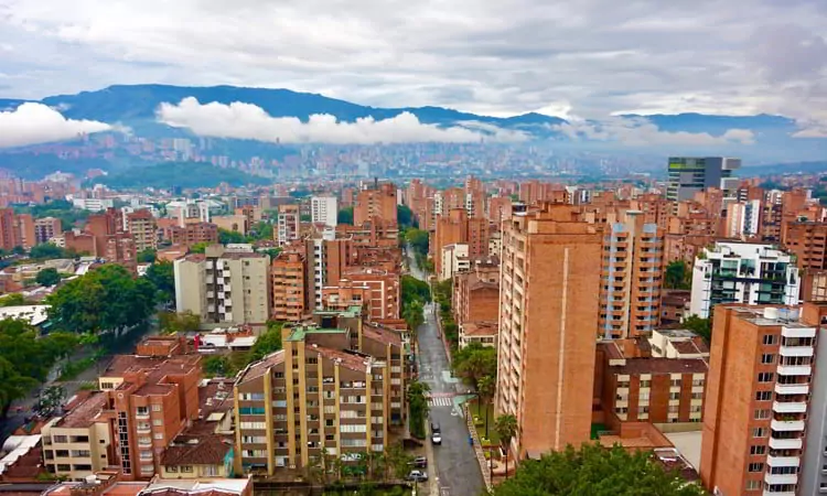
[[155, 293], [150, 279], [108, 263], [66, 282], [46, 303], [57, 328], [97, 334], [143, 322], [154, 310]]

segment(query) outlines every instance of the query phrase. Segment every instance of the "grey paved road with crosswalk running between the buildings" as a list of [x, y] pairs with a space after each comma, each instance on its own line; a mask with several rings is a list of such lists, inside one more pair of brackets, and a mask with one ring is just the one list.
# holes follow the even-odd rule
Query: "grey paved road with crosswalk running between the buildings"
[[[412, 257], [409, 259], [409, 267], [414, 277], [425, 278]], [[485, 489], [485, 483], [474, 450], [469, 444], [465, 419], [455, 407], [458, 401], [445, 405], [447, 398], [464, 392], [465, 388], [459, 379], [451, 377], [445, 348], [437, 328], [433, 304], [426, 306], [425, 317], [425, 324], [418, 330], [419, 378], [431, 387], [433, 398], [430, 401], [430, 420], [439, 422], [442, 428], [442, 445], [433, 446], [436, 464], [429, 468], [429, 475], [438, 477], [439, 496], [480, 495]]]

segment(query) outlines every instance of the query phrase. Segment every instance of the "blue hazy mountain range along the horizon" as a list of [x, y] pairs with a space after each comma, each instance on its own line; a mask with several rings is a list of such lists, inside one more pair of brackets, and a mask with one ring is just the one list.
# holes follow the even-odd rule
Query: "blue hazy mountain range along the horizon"
[[[340, 122], [354, 122], [367, 117], [379, 121], [409, 112], [416, 116], [420, 123], [436, 125], [443, 129], [460, 127], [483, 136], [495, 132], [492, 130], [508, 130], [538, 142], [549, 142], [562, 150], [573, 151], [726, 153], [745, 158], [752, 163], [824, 160], [827, 155], [827, 139], [794, 138], [797, 127], [793, 119], [763, 114], [624, 115], [601, 121], [567, 122], [559, 117], [536, 112], [502, 118], [443, 107], [369, 107], [289, 89], [168, 85], [116, 85], [76, 95], [50, 96], [39, 103], [58, 110], [68, 119], [117, 123], [129, 127], [138, 136], [172, 137], [192, 134], [192, 130], [173, 128], [160, 122], [159, 107], [162, 104], [176, 105], [190, 97], [194, 97], [202, 105], [251, 104], [271, 117], [296, 117], [302, 122], [308, 122], [310, 116], [318, 114], [334, 116]], [[0, 99], [0, 111], [13, 110], [24, 101]], [[737, 136], [738, 139], [728, 138], [728, 132], [731, 133], [732, 130], [737, 130], [737, 133], [731, 136]]]

